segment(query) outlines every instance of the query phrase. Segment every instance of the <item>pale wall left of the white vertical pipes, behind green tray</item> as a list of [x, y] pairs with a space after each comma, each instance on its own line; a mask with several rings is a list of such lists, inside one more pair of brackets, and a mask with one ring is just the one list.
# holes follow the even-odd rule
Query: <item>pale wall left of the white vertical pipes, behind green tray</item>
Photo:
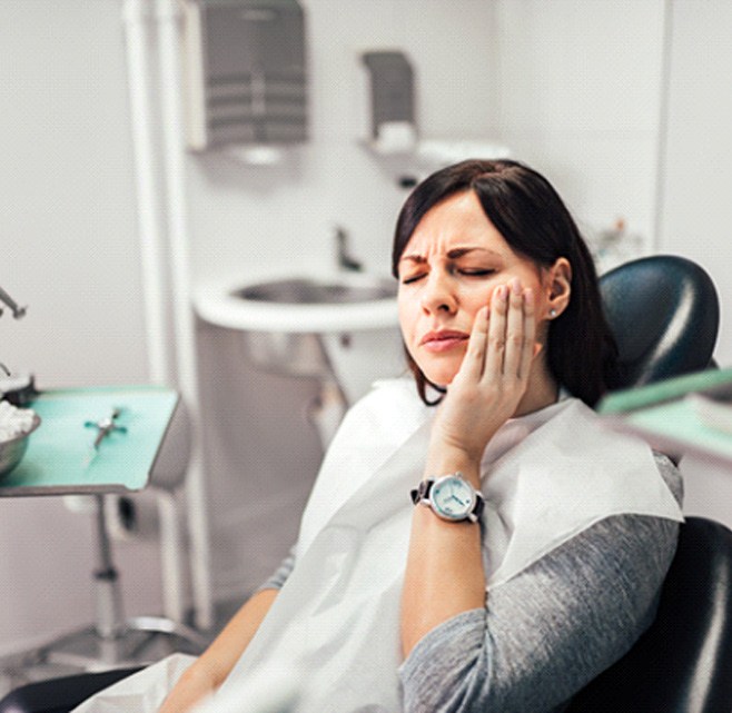
[[[29, 305], [0, 318], [0, 362], [41, 387], [146, 382], [119, 3], [3, 1], [0, 101], [0, 285]], [[60, 498], [0, 499], [0, 652], [92, 618], [91, 531]], [[157, 606], [156, 547], [119, 561], [129, 611]]]

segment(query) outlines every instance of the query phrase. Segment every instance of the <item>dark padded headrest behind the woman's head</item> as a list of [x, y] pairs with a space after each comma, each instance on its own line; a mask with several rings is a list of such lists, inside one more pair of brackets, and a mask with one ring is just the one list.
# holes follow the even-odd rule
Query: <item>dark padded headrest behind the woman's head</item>
[[600, 278], [605, 316], [620, 353], [609, 386], [627, 388], [710, 366], [720, 307], [714, 284], [695, 263], [654, 255]]

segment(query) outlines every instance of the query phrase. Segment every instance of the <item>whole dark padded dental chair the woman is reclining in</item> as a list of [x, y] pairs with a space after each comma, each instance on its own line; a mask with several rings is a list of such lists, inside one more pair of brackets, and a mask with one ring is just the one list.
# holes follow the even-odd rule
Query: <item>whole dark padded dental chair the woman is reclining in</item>
[[[601, 278], [629, 388], [713, 366], [719, 303], [698, 265], [653, 256]], [[135, 670], [34, 683], [0, 701], [0, 713], [66, 713]], [[650, 630], [580, 692], [570, 713], [730, 713], [732, 711], [732, 532], [690, 517]]]

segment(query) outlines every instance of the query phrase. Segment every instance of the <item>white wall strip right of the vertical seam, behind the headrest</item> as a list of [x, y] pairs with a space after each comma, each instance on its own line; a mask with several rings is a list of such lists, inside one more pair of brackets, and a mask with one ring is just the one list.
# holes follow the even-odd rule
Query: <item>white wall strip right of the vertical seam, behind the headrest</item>
[[[732, 4], [673, 3], [673, 51], [662, 246], [710, 273], [722, 305], [716, 358], [732, 364]], [[686, 512], [732, 527], [732, 475], [703, 458], [683, 463]]]

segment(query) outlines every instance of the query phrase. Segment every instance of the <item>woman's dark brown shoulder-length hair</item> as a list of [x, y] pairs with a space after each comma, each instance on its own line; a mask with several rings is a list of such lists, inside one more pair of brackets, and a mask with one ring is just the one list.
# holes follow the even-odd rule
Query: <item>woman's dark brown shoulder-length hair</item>
[[[422, 181], [404, 204], [396, 224], [392, 271], [425, 214], [455, 194], [473, 190], [491, 222], [511, 248], [540, 267], [564, 257], [572, 266], [566, 309], [550, 324], [548, 368], [573, 396], [593, 406], [616, 368], [617, 350], [605, 320], [597, 275], [580, 230], [552, 185], [535, 170], [507, 159], [467, 160]], [[406, 349], [405, 349], [406, 351]], [[431, 384], [407, 351], [419, 396]], [[438, 389], [439, 390], [439, 389]]]

